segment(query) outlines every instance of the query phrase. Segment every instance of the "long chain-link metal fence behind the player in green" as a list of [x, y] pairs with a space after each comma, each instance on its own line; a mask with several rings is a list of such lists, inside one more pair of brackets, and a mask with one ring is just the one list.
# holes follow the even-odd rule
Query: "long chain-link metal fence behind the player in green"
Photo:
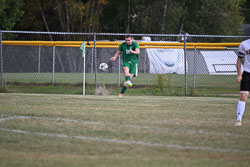
[[[111, 62], [127, 34], [0, 31], [1, 86], [8, 84], [86, 85], [120, 89], [121, 56]], [[140, 45], [134, 88], [160, 95], [232, 96], [237, 48], [246, 36], [131, 34]], [[84, 66], [80, 45], [86, 45]], [[100, 63], [107, 72], [100, 72]], [[154, 94], [154, 93], [153, 93]]]

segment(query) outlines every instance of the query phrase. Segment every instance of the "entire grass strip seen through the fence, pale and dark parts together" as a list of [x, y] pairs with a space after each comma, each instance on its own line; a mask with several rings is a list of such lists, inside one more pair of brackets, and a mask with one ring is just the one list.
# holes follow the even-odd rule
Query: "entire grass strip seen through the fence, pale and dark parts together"
[[[161, 77], [159, 82], [159, 77]], [[52, 86], [51, 73], [4, 73], [5, 89], [0, 92], [11, 93], [48, 93], [48, 94], [82, 94], [81, 73], [55, 73], [55, 85]], [[187, 76], [189, 96], [238, 96], [239, 84], [234, 75], [192, 75]], [[120, 84], [124, 82], [123, 74]], [[118, 74], [98, 73], [97, 84], [105, 84], [111, 95], [118, 94]], [[184, 75], [140, 74], [133, 79], [134, 87], [127, 91], [129, 95], [184, 96]], [[94, 94], [95, 75], [86, 74], [86, 94]]]

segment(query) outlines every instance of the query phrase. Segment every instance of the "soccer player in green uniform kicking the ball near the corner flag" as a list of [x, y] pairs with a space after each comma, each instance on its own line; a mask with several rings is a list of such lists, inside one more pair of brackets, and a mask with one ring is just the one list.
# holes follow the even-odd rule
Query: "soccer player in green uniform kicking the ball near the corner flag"
[[125, 36], [125, 42], [123, 42], [118, 51], [111, 61], [115, 61], [117, 57], [122, 53], [122, 67], [125, 76], [125, 83], [119, 96], [123, 96], [128, 87], [132, 87], [131, 79], [138, 75], [138, 55], [140, 54], [139, 44], [133, 41], [132, 36]]

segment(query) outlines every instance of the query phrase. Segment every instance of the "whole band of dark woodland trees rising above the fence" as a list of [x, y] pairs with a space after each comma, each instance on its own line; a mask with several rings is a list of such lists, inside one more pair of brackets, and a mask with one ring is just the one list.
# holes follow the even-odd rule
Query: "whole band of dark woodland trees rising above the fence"
[[[0, 0], [0, 29], [240, 35], [250, 0]], [[53, 39], [51, 39], [53, 40]]]

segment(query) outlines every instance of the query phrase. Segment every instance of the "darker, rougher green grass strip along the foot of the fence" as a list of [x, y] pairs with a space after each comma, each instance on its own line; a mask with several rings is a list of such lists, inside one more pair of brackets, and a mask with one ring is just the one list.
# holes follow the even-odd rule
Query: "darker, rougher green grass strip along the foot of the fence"
[[[105, 85], [109, 95], [118, 95], [121, 87], [117, 85]], [[86, 85], [86, 94], [95, 94], [95, 85]], [[30, 83], [7, 83], [4, 88], [0, 88], [2, 93], [39, 93], [39, 94], [82, 94], [82, 85], [73, 84], [30, 84]], [[184, 96], [184, 87], [164, 86], [160, 87], [158, 84], [153, 86], [137, 86], [129, 88], [126, 95], [130, 96]], [[188, 96], [238, 96], [238, 89], [232, 90], [230, 88], [196, 88], [188, 87]]]

